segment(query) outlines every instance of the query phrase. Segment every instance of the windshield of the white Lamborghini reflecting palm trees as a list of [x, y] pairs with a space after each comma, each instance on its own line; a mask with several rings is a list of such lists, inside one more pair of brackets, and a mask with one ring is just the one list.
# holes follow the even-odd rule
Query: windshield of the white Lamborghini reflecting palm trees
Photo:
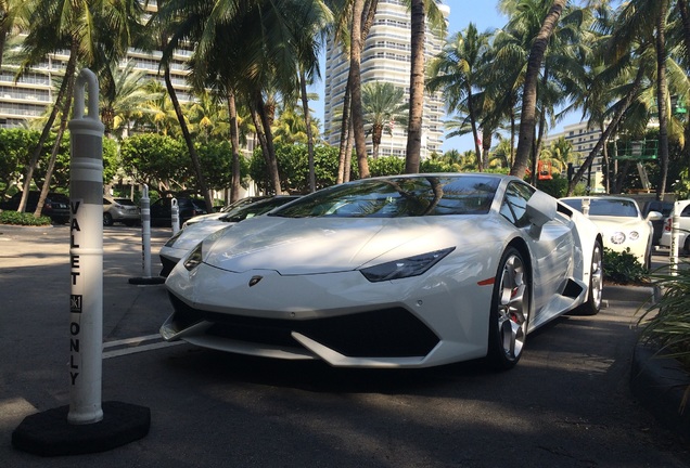
[[499, 178], [420, 176], [360, 180], [304, 196], [270, 216], [285, 218], [398, 218], [484, 214]]

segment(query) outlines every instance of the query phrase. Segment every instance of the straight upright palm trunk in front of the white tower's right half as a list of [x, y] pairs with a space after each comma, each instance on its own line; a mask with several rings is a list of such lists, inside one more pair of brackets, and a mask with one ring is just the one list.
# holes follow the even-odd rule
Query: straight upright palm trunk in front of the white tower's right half
[[[410, 117], [407, 127], [405, 173], [419, 172], [422, 152], [422, 117], [424, 113], [424, 0], [412, 0], [411, 3]], [[477, 157], [481, 157], [481, 155], [477, 154]]]

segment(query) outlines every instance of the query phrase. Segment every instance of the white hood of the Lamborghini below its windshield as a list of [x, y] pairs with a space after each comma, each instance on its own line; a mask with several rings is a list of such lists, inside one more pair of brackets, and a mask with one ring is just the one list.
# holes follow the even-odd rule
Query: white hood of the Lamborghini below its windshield
[[[256, 217], [205, 240], [204, 262], [221, 270], [280, 274], [352, 271], [368, 264], [501, 237], [488, 216], [419, 218]], [[487, 235], [487, 233], [495, 233]]]

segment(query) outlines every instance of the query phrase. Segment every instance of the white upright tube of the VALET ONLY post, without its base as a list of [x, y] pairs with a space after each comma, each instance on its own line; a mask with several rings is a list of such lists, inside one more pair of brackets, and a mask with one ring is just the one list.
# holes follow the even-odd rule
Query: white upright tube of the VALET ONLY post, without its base
[[[88, 87], [87, 116], [84, 90]], [[103, 419], [101, 407], [103, 348], [103, 132], [99, 120], [95, 75], [82, 69], [74, 93], [69, 121], [72, 161], [71, 206], [71, 320], [69, 413], [74, 425]]]

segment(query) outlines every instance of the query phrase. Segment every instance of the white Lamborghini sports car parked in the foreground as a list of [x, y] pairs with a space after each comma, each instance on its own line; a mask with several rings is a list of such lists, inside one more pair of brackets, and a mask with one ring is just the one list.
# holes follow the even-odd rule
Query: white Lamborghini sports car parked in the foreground
[[528, 333], [596, 314], [602, 239], [508, 176], [323, 188], [218, 231], [166, 281], [165, 340], [345, 367], [515, 365]]

